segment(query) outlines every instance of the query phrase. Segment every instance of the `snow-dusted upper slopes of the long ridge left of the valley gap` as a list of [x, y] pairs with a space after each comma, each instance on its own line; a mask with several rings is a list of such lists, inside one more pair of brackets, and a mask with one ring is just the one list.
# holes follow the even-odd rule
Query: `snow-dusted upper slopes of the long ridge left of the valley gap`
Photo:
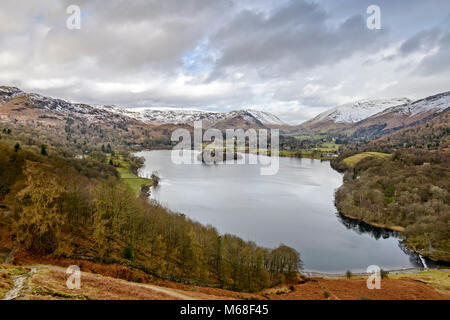
[[[9, 101], [20, 98], [19, 104], [24, 103], [34, 110], [40, 110], [41, 119], [59, 117], [76, 117], [85, 123], [120, 121], [126, 123], [142, 123], [148, 126], [159, 125], [193, 125], [195, 121], [203, 121], [203, 126], [227, 128], [265, 128], [281, 126], [284, 122], [268, 112], [257, 110], [237, 110], [230, 112], [212, 112], [182, 108], [125, 108], [114, 105], [95, 106], [69, 102], [62, 99], [46, 97], [35, 93], [26, 93], [15, 87], [0, 86], [0, 106]], [[15, 102], [18, 103], [18, 102]], [[2, 110], [2, 117], [14, 114], [16, 119], [28, 119], [27, 112], [18, 112], [18, 108], [11, 106], [11, 110]], [[23, 109], [25, 110], [25, 109]], [[8, 115], [7, 115], [8, 114]]]

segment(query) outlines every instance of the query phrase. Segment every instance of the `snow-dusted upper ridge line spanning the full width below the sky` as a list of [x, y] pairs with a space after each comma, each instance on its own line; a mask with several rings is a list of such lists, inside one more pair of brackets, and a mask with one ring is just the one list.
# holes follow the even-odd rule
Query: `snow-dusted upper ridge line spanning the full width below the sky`
[[[306, 121], [290, 126], [277, 116], [254, 109], [229, 112], [174, 108], [125, 108], [113, 105], [89, 105], [26, 93], [16, 87], [0, 86], [0, 118], [26, 125], [36, 123], [64, 128], [68, 118], [80, 125], [101, 126], [122, 130], [135, 141], [164, 138], [170, 130], [192, 126], [202, 120], [203, 128], [269, 129], [279, 128], [281, 134], [326, 134], [355, 139], [373, 139], [414, 126], [434, 118], [450, 106], [450, 92], [443, 92], [412, 101], [408, 98], [364, 99], [344, 104]], [[131, 132], [128, 132], [130, 129]], [[131, 133], [131, 134], [130, 134]], [[117, 133], [113, 133], [117, 134]]]

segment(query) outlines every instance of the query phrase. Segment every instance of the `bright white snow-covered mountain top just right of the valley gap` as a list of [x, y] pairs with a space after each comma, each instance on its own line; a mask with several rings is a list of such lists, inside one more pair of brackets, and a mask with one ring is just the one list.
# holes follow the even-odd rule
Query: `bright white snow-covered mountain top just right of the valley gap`
[[335, 123], [355, 123], [388, 108], [410, 103], [408, 98], [365, 99], [343, 104], [327, 110], [309, 122], [333, 121]]

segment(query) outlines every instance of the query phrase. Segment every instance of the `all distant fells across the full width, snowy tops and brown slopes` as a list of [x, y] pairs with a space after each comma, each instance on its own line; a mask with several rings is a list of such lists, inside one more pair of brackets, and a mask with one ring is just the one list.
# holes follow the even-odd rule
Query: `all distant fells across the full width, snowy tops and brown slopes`
[[252, 109], [211, 112], [93, 106], [0, 87], [0, 123], [4, 127], [20, 127], [30, 142], [40, 139], [70, 148], [76, 145], [79, 150], [99, 149], [105, 143], [124, 148], [167, 146], [175, 129], [192, 131], [193, 123], [199, 120], [204, 129], [279, 128], [282, 135], [324, 134], [372, 140], [427, 123], [444, 114], [449, 106], [450, 92], [417, 101], [360, 100], [330, 109], [299, 126], [290, 126], [271, 113]]

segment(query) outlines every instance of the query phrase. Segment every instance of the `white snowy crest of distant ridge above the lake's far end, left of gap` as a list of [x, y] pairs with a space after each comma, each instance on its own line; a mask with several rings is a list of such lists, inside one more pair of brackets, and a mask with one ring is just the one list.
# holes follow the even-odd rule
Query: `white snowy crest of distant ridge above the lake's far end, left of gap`
[[263, 125], [284, 125], [277, 116], [257, 110], [237, 110], [230, 112], [213, 112], [195, 109], [177, 108], [123, 108], [117, 106], [99, 106], [99, 108], [120, 113], [147, 124], [189, 124], [195, 121], [203, 121], [207, 125], [214, 125], [219, 121], [241, 117], [250, 123], [261, 123]]

